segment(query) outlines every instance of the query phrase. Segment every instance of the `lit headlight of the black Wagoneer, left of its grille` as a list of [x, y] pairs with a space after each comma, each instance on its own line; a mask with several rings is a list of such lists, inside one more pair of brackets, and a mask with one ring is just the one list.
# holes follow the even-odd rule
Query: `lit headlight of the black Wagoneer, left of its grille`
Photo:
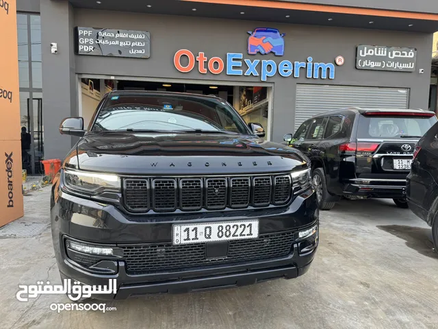
[[83, 171], [64, 171], [64, 184], [73, 190], [91, 194], [119, 192], [121, 186], [120, 178], [116, 175]]

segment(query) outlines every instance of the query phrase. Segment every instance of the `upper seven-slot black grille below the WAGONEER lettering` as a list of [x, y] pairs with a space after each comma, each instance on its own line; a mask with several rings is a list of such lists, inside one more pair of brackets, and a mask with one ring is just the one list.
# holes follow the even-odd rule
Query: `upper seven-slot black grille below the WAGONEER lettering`
[[130, 212], [243, 209], [287, 204], [289, 175], [246, 177], [126, 178], [123, 201]]

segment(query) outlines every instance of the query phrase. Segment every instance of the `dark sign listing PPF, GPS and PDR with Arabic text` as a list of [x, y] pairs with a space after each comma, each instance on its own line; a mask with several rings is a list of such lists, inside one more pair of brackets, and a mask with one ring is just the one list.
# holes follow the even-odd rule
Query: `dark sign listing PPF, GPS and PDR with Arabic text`
[[75, 53], [79, 55], [149, 58], [151, 34], [127, 29], [75, 27]]

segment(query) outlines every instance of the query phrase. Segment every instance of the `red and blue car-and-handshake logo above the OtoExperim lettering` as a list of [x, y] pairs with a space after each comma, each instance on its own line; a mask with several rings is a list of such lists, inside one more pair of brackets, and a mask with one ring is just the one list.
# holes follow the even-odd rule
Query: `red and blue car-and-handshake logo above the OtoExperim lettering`
[[268, 27], [258, 27], [252, 31], [248, 31], [248, 54], [255, 55], [261, 53], [274, 53], [275, 56], [283, 56], [285, 53], [284, 33], [280, 33], [278, 29], [270, 29]]

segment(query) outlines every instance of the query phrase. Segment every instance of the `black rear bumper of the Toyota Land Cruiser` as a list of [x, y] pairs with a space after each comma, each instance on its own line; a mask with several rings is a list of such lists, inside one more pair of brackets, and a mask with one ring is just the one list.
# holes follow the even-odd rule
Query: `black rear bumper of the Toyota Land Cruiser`
[[387, 182], [352, 180], [352, 182], [344, 186], [344, 195], [402, 199], [406, 197], [406, 180], [393, 180]]

